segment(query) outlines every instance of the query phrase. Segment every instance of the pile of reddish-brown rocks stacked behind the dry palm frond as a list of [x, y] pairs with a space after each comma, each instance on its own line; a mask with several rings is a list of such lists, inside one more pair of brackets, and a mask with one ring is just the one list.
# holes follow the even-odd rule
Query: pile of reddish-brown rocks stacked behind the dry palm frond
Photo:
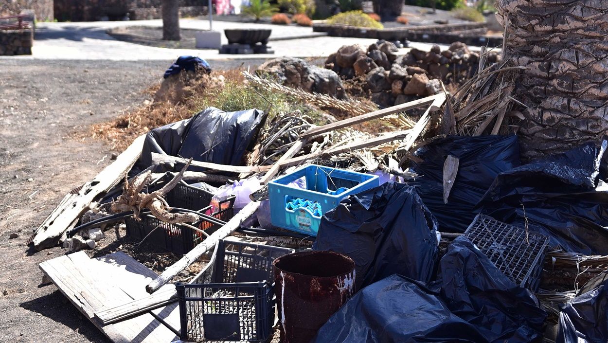
[[[367, 49], [342, 46], [327, 58], [325, 68], [347, 80], [359, 78], [371, 100], [388, 107], [441, 92], [440, 80], [446, 85], [460, 83], [477, 72], [479, 63], [479, 55], [460, 42], [444, 51], [434, 45], [429, 52], [412, 49], [399, 56], [398, 50], [389, 41], [378, 41]], [[499, 58], [496, 53], [488, 55], [490, 62]]]

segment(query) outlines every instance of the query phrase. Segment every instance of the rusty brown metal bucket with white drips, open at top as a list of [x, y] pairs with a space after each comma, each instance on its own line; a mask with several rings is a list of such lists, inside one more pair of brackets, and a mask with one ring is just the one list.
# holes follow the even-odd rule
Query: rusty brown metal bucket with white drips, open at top
[[295, 252], [272, 265], [282, 343], [309, 343], [354, 294], [354, 261], [345, 255]]

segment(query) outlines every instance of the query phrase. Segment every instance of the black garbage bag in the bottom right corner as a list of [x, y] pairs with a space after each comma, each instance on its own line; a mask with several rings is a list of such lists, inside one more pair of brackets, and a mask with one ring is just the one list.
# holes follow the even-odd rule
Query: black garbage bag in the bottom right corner
[[556, 343], [608, 342], [608, 282], [561, 306]]

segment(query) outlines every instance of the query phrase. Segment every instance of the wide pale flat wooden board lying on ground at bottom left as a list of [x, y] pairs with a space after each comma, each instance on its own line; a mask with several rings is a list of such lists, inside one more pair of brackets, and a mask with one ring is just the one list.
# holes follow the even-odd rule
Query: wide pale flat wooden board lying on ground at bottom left
[[[40, 263], [40, 269], [67, 299], [114, 343], [169, 343], [178, 339], [177, 303], [142, 313], [116, 324], [102, 325], [94, 313], [133, 299], [148, 297], [145, 285], [156, 274], [122, 252], [89, 258], [76, 252]], [[168, 291], [173, 285], [161, 289]], [[166, 324], [157, 320], [162, 319]]]

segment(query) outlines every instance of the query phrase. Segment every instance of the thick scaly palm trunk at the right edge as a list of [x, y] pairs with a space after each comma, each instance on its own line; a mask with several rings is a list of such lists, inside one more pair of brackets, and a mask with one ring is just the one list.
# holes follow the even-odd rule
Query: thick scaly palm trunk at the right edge
[[608, 134], [608, 1], [496, 0], [503, 58], [521, 72], [522, 153], [534, 159]]

